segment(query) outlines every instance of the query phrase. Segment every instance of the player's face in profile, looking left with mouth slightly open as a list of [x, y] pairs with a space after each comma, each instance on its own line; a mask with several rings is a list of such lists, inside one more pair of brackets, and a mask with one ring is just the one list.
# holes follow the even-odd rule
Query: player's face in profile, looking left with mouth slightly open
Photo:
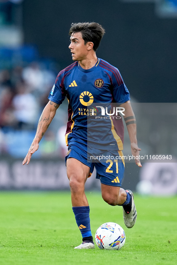
[[75, 32], [70, 37], [69, 49], [72, 53], [73, 61], [82, 61], [88, 54], [87, 44], [84, 45], [81, 32]]

